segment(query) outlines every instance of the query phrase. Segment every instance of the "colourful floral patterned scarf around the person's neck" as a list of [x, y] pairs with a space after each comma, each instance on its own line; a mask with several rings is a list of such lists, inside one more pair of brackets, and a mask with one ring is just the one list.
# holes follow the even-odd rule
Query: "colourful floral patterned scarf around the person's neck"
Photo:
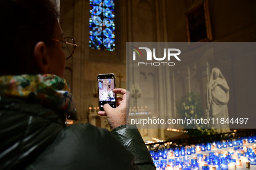
[[0, 76], [1, 95], [46, 104], [67, 113], [68, 119], [79, 119], [68, 83], [55, 75]]

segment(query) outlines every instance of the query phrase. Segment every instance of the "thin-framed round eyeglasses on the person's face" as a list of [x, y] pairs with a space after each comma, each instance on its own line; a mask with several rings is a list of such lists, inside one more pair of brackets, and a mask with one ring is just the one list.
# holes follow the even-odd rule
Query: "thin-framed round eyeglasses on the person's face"
[[75, 43], [75, 40], [71, 37], [65, 37], [64, 41], [56, 39], [52, 40], [62, 42], [62, 49], [65, 54], [66, 60], [73, 56], [73, 54], [75, 53], [75, 48], [78, 46]]

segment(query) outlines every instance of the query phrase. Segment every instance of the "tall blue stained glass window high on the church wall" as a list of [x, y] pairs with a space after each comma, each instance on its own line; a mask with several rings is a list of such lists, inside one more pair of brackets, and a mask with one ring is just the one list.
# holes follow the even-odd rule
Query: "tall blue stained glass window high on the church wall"
[[115, 50], [114, 0], [90, 0], [89, 47]]

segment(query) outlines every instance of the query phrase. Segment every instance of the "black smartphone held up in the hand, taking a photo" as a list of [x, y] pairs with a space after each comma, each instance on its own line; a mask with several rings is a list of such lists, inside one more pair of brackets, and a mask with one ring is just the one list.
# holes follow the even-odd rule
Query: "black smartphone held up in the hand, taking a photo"
[[116, 88], [116, 76], [114, 73], [99, 74], [97, 76], [98, 83], [98, 97], [99, 97], [99, 109], [104, 111], [104, 104], [109, 104], [111, 107], [117, 107], [116, 94], [113, 89]]

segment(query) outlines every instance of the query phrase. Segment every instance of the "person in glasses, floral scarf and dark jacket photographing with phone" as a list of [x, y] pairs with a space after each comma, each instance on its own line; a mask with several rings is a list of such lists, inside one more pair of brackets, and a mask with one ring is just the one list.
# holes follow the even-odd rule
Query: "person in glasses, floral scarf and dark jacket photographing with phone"
[[126, 128], [126, 95], [104, 105], [112, 134], [78, 120], [64, 77], [78, 46], [63, 37], [52, 0], [0, 0], [0, 169], [156, 169], [137, 129]]

